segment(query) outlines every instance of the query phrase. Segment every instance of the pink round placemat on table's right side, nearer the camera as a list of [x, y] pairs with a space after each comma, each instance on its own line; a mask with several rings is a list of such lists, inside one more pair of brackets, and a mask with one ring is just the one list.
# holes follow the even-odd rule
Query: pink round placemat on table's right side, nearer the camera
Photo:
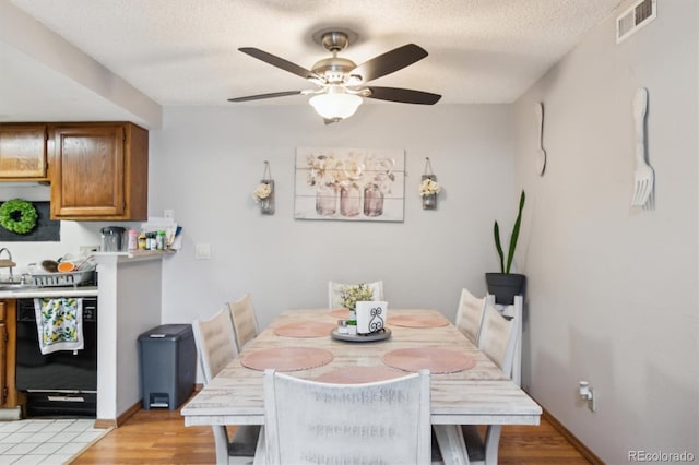
[[476, 366], [476, 359], [451, 349], [419, 347], [391, 350], [381, 358], [386, 365], [405, 371], [427, 368], [430, 373], [455, 373]]

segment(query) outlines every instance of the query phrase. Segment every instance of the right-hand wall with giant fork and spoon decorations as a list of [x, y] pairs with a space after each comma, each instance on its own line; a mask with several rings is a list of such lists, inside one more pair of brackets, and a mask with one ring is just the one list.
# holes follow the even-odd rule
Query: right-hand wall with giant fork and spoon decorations
[[[609, 464], [636, 450], [699, 458], [699, 5], [657, 7], [657, 19], [619, 46], [614, 15], [514, 106], [514, 184], [528, 193], [518, 257], [529, 284], [524, 382]], [[649, 211], [630, 206], [638, 87], [650, 93]], [[595, 390], [596, 413], [579, 401], [579, 380]]]

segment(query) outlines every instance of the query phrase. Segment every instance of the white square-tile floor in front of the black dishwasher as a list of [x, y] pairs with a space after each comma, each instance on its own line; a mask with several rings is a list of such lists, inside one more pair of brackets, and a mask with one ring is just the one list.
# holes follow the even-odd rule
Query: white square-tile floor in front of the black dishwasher
[[94, 419], [0, 421], [0, 465], [64, 464], [108, 429]]

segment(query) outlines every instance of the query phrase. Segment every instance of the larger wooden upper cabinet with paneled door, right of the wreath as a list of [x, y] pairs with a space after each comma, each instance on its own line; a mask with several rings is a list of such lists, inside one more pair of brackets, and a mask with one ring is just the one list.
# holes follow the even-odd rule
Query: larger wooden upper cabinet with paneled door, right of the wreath
[[51, 219], [147, 218], [149, 133], [130, 122], [49, 124]]

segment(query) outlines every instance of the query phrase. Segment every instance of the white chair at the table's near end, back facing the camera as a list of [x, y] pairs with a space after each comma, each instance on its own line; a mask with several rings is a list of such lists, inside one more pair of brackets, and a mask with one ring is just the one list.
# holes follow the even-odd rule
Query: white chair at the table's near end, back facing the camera
[[256, 464], [430, 464], [428, 370], [332, 384], [264, 371], [264, 446]]

